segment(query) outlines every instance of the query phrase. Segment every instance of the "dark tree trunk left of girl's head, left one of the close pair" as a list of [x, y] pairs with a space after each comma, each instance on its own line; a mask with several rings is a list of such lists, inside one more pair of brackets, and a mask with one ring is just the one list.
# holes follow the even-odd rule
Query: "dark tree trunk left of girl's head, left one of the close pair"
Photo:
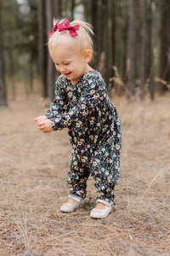
[[48, 96], [48, 78], [47, 78], [47, 30], [46, 30], [46, 1], [39, 0], [39, 72], [42, 81], [42, 97]]

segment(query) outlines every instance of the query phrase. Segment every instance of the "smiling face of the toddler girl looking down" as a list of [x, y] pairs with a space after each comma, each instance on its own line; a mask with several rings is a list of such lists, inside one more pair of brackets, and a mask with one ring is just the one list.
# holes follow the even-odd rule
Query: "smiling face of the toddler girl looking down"
[[89, 50], [86, 50], [82, 55], [70, 46], [62, 44], [54, 50], [49, 50], [49, 52], [56, 69], [59, 73], [65, 75], [71, 81], [71, 84], [76, 84], [82, 74], [88, 72], [88, 61], [91, 54]]

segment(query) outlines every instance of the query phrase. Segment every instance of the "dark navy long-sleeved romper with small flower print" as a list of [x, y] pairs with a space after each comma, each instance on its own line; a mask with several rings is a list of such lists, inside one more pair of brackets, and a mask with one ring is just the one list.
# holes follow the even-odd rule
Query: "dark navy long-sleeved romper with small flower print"
[[54, 130], [69, 129], [72, 145], [68, 183], [71, 195], [85, 198], [89, 175], [98, 199], [115, 205], [119, 179], [121, 125], [115, 105], [98, 71], [89, 71], [72, 85], [64, 75], [56, 81], [55, 99], [46, 116]]

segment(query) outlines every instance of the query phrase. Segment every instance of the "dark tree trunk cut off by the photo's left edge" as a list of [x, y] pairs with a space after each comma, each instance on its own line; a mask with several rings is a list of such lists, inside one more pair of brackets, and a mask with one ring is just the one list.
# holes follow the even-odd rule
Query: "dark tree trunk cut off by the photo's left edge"
[[0, 108], [7, 107], [6, 88], [3, 77], [3, 55], [2, 55], [2, 33], [1, 33], [1, 3], [0, 3]]

